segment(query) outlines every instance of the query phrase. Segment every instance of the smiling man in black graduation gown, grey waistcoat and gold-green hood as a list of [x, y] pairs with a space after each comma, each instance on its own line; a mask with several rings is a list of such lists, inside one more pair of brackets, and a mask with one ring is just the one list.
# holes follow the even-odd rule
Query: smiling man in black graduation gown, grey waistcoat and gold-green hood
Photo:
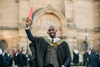
[[28, 28], [29, 21], [26, 20], [26, 34], [33, 43], [31, 47], [35, 50], [37, 67], [69, 67], [71, 59], [69, 46], [56, 37], [57, 29], [51, 25], [47, 31], [49, 37], [35, 37]]

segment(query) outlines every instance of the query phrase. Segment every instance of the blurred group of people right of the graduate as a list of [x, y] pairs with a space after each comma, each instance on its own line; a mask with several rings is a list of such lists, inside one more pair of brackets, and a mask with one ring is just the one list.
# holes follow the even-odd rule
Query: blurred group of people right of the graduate
[[77, 48], [73, 51], [73, 63], [75, 66], [100, 67], [100, 56], [95, 49], [87, 49], [83, 53]]

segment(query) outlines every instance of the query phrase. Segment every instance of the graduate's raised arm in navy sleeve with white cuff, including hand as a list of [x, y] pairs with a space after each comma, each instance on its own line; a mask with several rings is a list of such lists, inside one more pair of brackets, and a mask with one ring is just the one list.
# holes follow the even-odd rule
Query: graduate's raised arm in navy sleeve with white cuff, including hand
[[26, 22], [25, 22], [25, 24], [26, 24], [26, 29], [25, 29], [25, 31], [26, 31], [26, 34], [27, 34], [27, 36], [28, 36], [28, 39], [29, 39], [30, 41], [34, 41], [34, 36], [32, 35], [32, 33], [31, 33], [31, 31], [30, 31], [29, 23], [30, 23], [30, 20], [27, 18], [27, 19], [26, 19]]

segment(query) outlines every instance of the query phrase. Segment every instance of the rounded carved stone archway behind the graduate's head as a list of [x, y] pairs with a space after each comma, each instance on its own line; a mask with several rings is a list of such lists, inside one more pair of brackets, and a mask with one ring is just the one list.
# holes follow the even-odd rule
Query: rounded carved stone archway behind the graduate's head
[[[33, 14], [31, 28], [36, 36], [47, 36], [46, 32], [50, 25], [54, 25], [57, 28], [57, 36], [61, 37], [63, 29], [67, 26], [67, 22], [62, 13], [58, 12], [49, 5], [44, 9], [40, 9]], [[40, 34], [41, 33], [41, 34]]]

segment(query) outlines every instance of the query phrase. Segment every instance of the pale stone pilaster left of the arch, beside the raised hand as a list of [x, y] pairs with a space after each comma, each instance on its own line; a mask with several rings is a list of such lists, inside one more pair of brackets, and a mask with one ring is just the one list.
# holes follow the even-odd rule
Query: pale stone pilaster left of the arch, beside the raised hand
[[19, 48], [27, 48], [25, 20], [30, 9], [30, 0], [19, 0]]

